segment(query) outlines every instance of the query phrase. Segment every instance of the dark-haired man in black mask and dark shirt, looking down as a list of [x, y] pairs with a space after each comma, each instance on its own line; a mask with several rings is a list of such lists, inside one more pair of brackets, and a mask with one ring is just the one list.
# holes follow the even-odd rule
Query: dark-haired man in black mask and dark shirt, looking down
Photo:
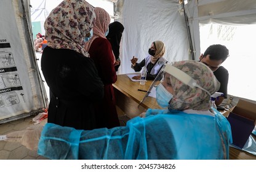
[[210, 45], [199, 57], [199, 60], [207, 65], [214, 72], [215, 77], [218, 82], [220, 82], [220, 89], [218, 92], [223, 93], [223, 96], [218, 97], [215, 100], [216, 106], [218, 106], [224, 98], [227, 98], [228, 90], [228, 70], [225, 69], [222, 65], [223, 61], [229, 56], [229, 50], [226, 49], [224, 45], [214, 44]]

